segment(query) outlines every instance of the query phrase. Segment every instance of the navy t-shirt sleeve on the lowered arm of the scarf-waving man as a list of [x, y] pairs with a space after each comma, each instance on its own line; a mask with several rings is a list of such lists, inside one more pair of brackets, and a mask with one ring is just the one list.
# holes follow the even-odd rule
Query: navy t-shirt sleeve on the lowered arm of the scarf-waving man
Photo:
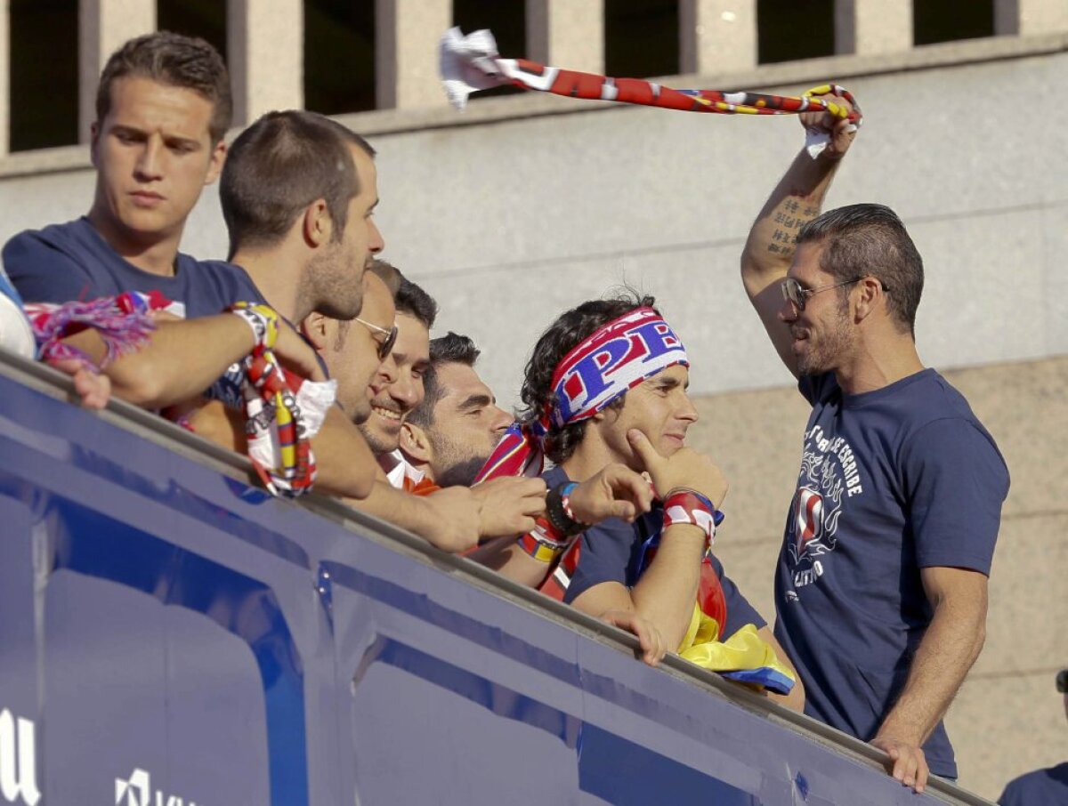
[[902, 446], [904, 487], [921, 568], [990, 573], [1008, 470], [989, 437], [964, 418], [928, 423]]

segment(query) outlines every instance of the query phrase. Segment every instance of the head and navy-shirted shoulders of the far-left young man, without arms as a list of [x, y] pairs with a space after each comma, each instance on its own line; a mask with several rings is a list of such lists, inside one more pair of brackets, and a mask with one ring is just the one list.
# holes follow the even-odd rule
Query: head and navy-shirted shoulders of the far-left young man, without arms
[[160, 31], [112, 53], [97, 91], [89, 215], [27, 231], [3, 264], [27, 302], [158, 290], [188, 317], [262, 301], [248, 275], [178, 252], [186, 220], [219, 176], [231, 118], [230, 77], [203, 39]]

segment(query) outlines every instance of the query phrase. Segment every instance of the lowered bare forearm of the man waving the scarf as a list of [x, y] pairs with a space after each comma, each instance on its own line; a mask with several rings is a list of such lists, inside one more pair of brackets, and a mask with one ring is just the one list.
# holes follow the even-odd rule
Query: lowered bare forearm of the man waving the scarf
[[934, 609], [916, 648], [909, 678], [879, 736], [927, 741], [979, 657], [986, 638], [986, 607], [972, 602], [943, 602]]

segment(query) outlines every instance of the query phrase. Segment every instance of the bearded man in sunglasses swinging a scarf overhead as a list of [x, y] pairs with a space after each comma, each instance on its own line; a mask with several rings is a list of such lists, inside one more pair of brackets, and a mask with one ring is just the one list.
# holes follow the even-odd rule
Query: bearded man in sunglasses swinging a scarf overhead
[[798, 155], [741, 260], [813, 407], [775, 635], [806, 713], [885, 750], [894, 777], [922, 791], [929, 772], [957, 776], [942, 716], [983, 647], [1008, 472], [967, 400], [920, 360], [924, 268], [900, 219], [876, 204], [819, 215], [852, 135], [802, 117], [831, 144]]

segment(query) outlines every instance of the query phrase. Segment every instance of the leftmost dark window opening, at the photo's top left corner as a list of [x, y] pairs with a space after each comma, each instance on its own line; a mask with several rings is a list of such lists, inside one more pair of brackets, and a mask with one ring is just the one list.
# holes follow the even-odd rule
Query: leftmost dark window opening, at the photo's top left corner
[[78, 142], [78, 0], [11, 0], [11, 151]]

